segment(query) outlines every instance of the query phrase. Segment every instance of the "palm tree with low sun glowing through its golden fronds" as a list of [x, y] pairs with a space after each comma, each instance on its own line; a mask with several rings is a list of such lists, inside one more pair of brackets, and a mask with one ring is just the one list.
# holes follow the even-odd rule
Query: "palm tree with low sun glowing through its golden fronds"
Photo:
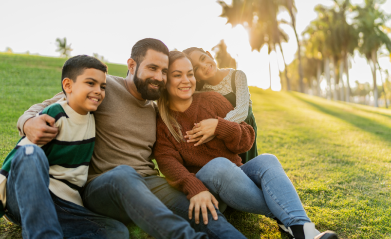
[[[260, 51], [263, 45], [267, 45], [268, 54], [270, 54], [270, 52], [276, 50], [276, 46], [279, 45], [285, 64], [281, 42], [288, 41], [288, 36], [279, 27], [280, 22], [277, 21], [279, 7], [282, 6], [281, 4], [283, 1], [232, 0], [231, 5], [227, 5], [224, 1], [218, 1], [218, 3], [223, 7], [223, 12], [220, 17], [227, 18], [227, 23], [231, 23], [232, 27], [241, 24], [249, 31], [249, 42], [252, 50]], [[287, 77], [286, 72], [285, 76]], [[288, 78], [287, 86], [289, 90], [290, 84]]]

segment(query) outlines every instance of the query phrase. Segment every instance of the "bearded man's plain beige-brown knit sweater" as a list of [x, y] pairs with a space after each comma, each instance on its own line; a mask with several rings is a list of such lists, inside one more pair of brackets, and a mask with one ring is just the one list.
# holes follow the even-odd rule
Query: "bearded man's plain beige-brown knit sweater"
[[[112, 170], [118, 165], [129, 165], [141, 176], [157, 175], [150, 159], [156, 141], [156, 111], [151, 100], [137, 100], [125, 87], [124, 79], [107, 75], [106, 97], [95, 117], [96, 136], [88, 180]], [[21, 136], [27, 119], [65, 95], [58, 93], [50, 100], [30, 107], [18, 120]]]

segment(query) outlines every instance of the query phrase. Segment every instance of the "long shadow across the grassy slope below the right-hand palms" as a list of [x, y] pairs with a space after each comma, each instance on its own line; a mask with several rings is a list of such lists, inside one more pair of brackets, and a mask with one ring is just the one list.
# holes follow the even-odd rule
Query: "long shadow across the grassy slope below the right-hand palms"
[[[386, 141], [391, 142], [391, 128], [388, 126], [377, 123], [376, 121], [374, 121], [372, 119], [367, 119], [365, 117], [358, 116], [354, 113], [346, 112], [346, 111], [341, 110], [339, 108], [333, 108], [332, 106], [325, 106], [325, 105], [320, 105], [320, 104], [314, 103], [310, 100], [303, 99], [300, 96], [295, 95], [295, 94], [291, 94], [291, 96], [317, 108], [317, 110], [319, 110], [323, 113], [334, 116], [338, 119], [342, 119], [342, 120], [349, 122], [350, 124], [356, 126], [357, 128], [365, 130], [369, 133], [376, 135], [377, 137], [380, 137]], [[355, 109], [390, 117], [388, 115], [384, 115], [384, 114], [381, 114], [378, 112], [372, 112], [369, 110], [363, 110], [363, 109], [358, 109], [358, 108], [355, 108]]]

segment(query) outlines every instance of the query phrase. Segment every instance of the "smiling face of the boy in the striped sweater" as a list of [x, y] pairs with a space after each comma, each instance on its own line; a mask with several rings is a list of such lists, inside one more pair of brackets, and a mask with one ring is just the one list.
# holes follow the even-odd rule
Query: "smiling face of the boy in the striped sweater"
[[106, 74], [103, 71], [88, 68], [75, 81], [66, 79], [63, 87], [68, 104], [80, 115], [95, 111], [105, 98]]

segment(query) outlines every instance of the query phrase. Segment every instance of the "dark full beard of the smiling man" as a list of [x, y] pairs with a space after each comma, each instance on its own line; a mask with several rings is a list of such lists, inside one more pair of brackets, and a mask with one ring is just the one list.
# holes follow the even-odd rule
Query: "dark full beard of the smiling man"
[[[138, 93], [141, 94], [141, 97], [144, 100], [158, 100], [160, 98], [160, 95], [163, 92], [164, 89], [164, 82], [159, 80], [152, 80], [152, 79], [140, 79], [137, 77], [137, 70], [138, 66], [136, 68], [136, 72], [133, 77], [133, 82], [136, 85]], [[149, 83], [158, 85], [158, 89], [149, 89]]]

